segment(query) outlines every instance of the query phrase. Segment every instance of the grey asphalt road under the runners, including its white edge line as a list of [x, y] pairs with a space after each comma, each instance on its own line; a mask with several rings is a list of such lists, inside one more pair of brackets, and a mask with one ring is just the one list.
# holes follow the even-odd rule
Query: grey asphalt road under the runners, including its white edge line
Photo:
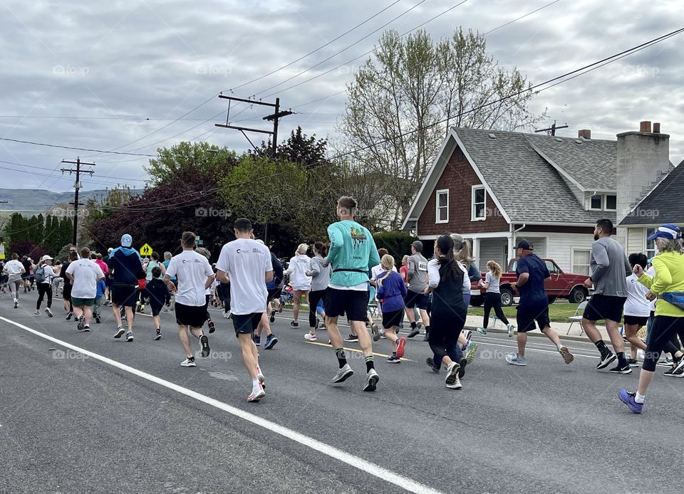
[[266, 397], [249, 404], [220, 312], [212, 354], [188, 369], [172, 313], [159, 342], [151, 318], [137, 316], [128, 343], [113, 339], [106, 308], [83, 333], [60, 300], [51, 319], [33, 315], [35, 300], [22, 294], [14, 310], [0, 298], [1, 493], [679, 490], [684, 379], [658, 372], [635, 416], [617, 393], [634, 389], [638, 372], [596, 372], [589, 343], [569, 342], [576, 359], [566, 365], [545, 338], [530, 338], [527, 367], [513, 367], [503, 357], [514, 339], [477, 335], [479, 355], [455, 391], [425, 365], [419, 337], [407, 362], [375, 357], [378, 391], [364, 393], [361, 354], [347, 352], [356, 374], [330, 384], [326, 333], [304, 342], [304, 325], [282, 317], [279, 343], [260, 350]]

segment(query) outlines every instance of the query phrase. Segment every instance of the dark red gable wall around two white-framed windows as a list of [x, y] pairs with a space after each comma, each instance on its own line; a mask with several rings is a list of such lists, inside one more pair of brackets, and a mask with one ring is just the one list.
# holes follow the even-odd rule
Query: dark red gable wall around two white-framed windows
[[[423, 213], [418, 218], [418, 236], [439, 235], [440, 233], [480, 233], [508, 231], [507, 221], [487, 194], [485, 206], [487, 218], [482, 221], [470, 221], [471, 194], [473, 185], [480, 185], [467, 159], [457, 159], [457, 149], [451, 155], [437, 186], [431, 191]], [[449, 223], [435, 223], [436, 190], [449, 189]]]

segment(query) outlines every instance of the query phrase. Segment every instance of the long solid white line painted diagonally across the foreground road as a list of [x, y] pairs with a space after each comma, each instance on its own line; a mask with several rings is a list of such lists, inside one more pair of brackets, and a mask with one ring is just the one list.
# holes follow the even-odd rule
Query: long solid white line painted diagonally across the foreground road
[[0, 316], [0, 320], [3, 320], [16, 327], [19, 327], [21, 330], [28, 331], [33, 335], [44, 338], [45, 340], [56, 343], [57, 345], [61, 345], [75, 352], [79, 352], [83, 355], [88, 355], [88, 357], [99, 360], [100, 362], [103, 362], [105, 364], [109, 364], [112, 367], [116, 367], [117, 369], [123, 370], [125, 372], [130, 372], [130, 374], [141, 377], [142, 379], [147, 379], [147, 381], [159, 384], [160, 386], [165, 387], [167, 389], [171, 389], [172, 391], [176, 391], [177, 393], [185, 394], [185, 396], [189, 396], [190, 398], [196, 399], [197, 401], [202, 401], [202, 403], [214, 406], [219, 410], [226, 411], [227, 413], [236, 416], [239, 419], [243, 419], [245, 421], [251, 422], [254, 425], [267, 429], [271, 432], [280, 434], [281, 436], [289, 438], [292, 441], [301, 444], [302, 446], [306, 446], [307, 448], [311, 448], [315, 451], [323, 453], [324, 455], [330, 456], [331, 458], [335, 458], [336, 460], [346, 463], [349, 466], [353, 466], [354, 468], [358, 468], [358, 470], [366, 472], [369, 475], [373, 475], [374, 477], [385, 480], [385, 482], [392, 483], [400, 488], [403, 488], [404, 490], [408, 490], [408, 492], [420, 494], [442, 494], [439, 490], [427, 487], [427, 485], [419, 483], [416, 480], [400, 475], [399, 473], [387, 470], [386, 468], [383, 468], [379, 465], [375, 465], [375, 463], [366, 461], [363, 458], [359, 458], [358, 456], [353, 456], [350, 453], [346, 453], [346, 451], [342, 451], [341, 449], [330, 446], [329, 444], [317, 441], [316, 439], [311, 438], [309, 436], [304, 436], [304, 434], [293, 431], [291, 429], [287, 429], [286, 427], [280, 426], [279, 424], [275, 424], [274, 422], [262, 419], [257, 415], [250, 414], [247, 411], [238, 409], [232, 405], [224, 403], [223, 401], [218, 401], [217, 399], [210, 398], [209, 396], [205, 396], [204, 394], [197, 393], [197, 391], [192, 391], [192, 389], [187, 389], [185, 387], [179, 386], [178, 384], [174, 384], [172, 382], [166, 381], [165, 379], [161, 379], [160, 377], [153, 376], [152, 374], [147, 374], [147, 372], [142, 372], [141, 370], [135, 369], [135, 367], [129, 367], [128, 365], [121, 364], [120, 362], [116, 362], [115, 360], [109, 359], [108, 357], [103, 357], [103, 355], [90, 352], [89, 350], [84, 350], [80, 347], [76, 347], [75, 345], [71, 345], [71, 343], [58, 340], [57, 338], [51, 337], [40, 331], [36, 331], [31, 329], [30, 327], [24, 326], [19, 322], [9, 320], [6, 317]]

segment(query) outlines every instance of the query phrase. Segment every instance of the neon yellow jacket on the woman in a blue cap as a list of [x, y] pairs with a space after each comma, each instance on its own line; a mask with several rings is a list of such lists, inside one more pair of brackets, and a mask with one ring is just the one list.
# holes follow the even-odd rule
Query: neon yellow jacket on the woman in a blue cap
[[[643, 273], [639, 283], [651, 290], [653, 295], [670, 292], [684, 292], [684, 255], [678, 252], [661, 252], [653, 258], [655, 276]], [[655, 315], [684, 317], [684, 310], [665, 302], [658, 297], [655, 303]]]

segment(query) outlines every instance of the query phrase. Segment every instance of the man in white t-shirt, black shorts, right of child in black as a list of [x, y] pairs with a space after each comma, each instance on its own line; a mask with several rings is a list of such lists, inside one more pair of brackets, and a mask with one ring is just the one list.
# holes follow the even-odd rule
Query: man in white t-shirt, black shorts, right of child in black
[[[206, 256], [195, 252], [196, 240], [197, 236], [192, 231], [183, 232], [180, 240], [183, 251], [177, 256], [173, 256], [164, 276], [164, 283], [175, 294], [176, 298], [175, 312], [178, 337], [183, 350], [185, 350], [185, 360], [180, 363], [182, 367], [195, 367], [197, 365], [190, 348], [188, 332], [199, 340], [199, 350], [202, 357], [208, 357], [211, 352], [209, 338], [202, 332], [202, 326], [207, 320], [207, 297], [205, 293], [214, 281], [214, 270], [212, 270]], [[177, 278], [178, 288], [171, 282], [172, 276]]]

